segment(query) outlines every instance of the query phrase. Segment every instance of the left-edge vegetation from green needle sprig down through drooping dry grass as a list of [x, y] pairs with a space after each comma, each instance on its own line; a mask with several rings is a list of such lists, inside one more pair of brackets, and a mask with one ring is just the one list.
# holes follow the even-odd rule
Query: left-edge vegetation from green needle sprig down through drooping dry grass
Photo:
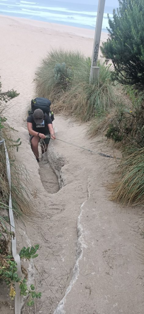
[[[5, 114], [8, 111], [8, 101], [18, 95], [19, 94], [13, 90], [2, 93], [0, 84], [0, 139], [1, 136], [5, 139], [10, 161], [12, 207], [18, 217], [23, 216], [23, 219], [26, 219], [27, 216], [31, 216], [33, 213], [30, 191], [28, 191], [27, 187], [28, 173], [24, 165], [19, 164], [15, 158], [15, 151], [18, 150], [21, 141], [19, 138], [17, 140], [13, 138], [13, 134], [16, 136], [16, 130], [8, 125], [7, 119], [5, 118]], [[3, 145], [0, 148], [0, 216], [3, 210], [8, 209], [9, 192]]]

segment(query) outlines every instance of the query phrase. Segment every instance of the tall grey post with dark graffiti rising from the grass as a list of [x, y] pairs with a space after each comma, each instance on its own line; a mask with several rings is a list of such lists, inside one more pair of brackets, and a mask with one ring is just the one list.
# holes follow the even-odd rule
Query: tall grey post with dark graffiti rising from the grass
[[102, 29], [102, 21], [104, 15], [105, 0], [99, 0], [96, 27], [95, 27], [95, 39], [92, 53], [91, 69], [90, 69], [90, 82], [99, 77], [99, 67], [97, 67], [99, 47], [100, 47], [100, 35]]

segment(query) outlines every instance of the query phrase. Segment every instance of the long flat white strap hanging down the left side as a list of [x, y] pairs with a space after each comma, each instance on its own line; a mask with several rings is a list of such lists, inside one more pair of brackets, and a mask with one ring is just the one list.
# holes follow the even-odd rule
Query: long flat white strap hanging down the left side
[[[4, 144], [5, 148], [5, 156], [6, 156], [6, 167], [7, 167], [7, 177], [8, 177], [8, 183], [9, 183], [9, 219], [10, 219], [10, 225], [11, 225], [11, 231], [15, 233], [15, 225], [14, 225], [14, 218], [13, 218], [13, 209], [12, 209], [12, 199], [11, 199], [11, 173], [10, 173], [10, 163], [9, 163], [9, 157], [8, 157], [8, 151], [5, 144], [5, 140], [0, 141], [0, 145]], [[13, 258], [15, 262], [17, 263], [17, 274], [18, 277], [21, 278], [21, 262], [20, 262], [20, 256], [17, 254], [17, 246], [16, 246], [16, 236], [12, 237], [12, 253]], [[20, 314], [21, 312], [21, 300], [20, 300], [20, 289], [19, 284], [15, 282], [15, 314]]]

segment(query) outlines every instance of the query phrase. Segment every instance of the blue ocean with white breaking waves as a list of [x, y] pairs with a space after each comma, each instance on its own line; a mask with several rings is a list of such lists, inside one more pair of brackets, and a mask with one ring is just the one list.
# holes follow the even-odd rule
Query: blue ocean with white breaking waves
[[[38, 2], [33, 0], [0, 0], [0, 14], [95, 29], [97, 6], [73, 3], [72, 1], [69, 3], [54, 0], [38, 0]], [[105, 6], [102, 31], [107, 31], [107, 13], [112, 18], [112, 10], [112, 7]]]

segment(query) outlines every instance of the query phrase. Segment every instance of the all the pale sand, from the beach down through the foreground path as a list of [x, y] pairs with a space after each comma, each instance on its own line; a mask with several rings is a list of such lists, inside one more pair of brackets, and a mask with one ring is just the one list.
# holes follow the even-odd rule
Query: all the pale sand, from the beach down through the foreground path
[[[59, 47], [59, 44], [81, 49], [89, 55], [92, 33], [75, 28], [66, 28], [65, 32], [64, 26], [59, 26], [57, 31], [57, 25], [52, 25], [52, 30], [47, 23], [16, 18], [1, 17], [0, 24], [3, 89], [15, 87], [20, 92], [12, 102], [15, 106], [9, 111], [9, 121], [18, 128], [23, 141], [18, 159], [29, 171], [33, 207], [40, 213], [35, 225], [19, 222], [17, 225], [20, 247], [22, 242], [28, 244], [28, 238], [31, 245], [40, 244], [39, 257], [34, 264], [36, 284], [43, 295], [35, 313], [142, 314], [144, 267], [138, 253], [143, 248], [143, 240], [138, 228], [143, 218], [138, 208], [116, 206], [106, 197], [103, 182], [109, 181], [114, 160], [66, 143], [52, 142], [49, 163], [59, 178], [61, 189], [49, 194], [43, 186], [46, 179], [55, 188], [57, 182], [53, 181], [49, 165], [45, 165], [40, 170], [41, 177], [45, 176], [42, 185], [23, 121], [26, 106], [33, 97], [33, 73], [40, 58], [50, 46]], [[57, 138], [112, 153], [107, 145], [102, 146], [100, 138], [87, 140], [83, 125], [57, 116], [54, 126]], [[2, 312], [9, 314], [3, 307]], [[23, 313], [28, 310], [24, 309]]]

